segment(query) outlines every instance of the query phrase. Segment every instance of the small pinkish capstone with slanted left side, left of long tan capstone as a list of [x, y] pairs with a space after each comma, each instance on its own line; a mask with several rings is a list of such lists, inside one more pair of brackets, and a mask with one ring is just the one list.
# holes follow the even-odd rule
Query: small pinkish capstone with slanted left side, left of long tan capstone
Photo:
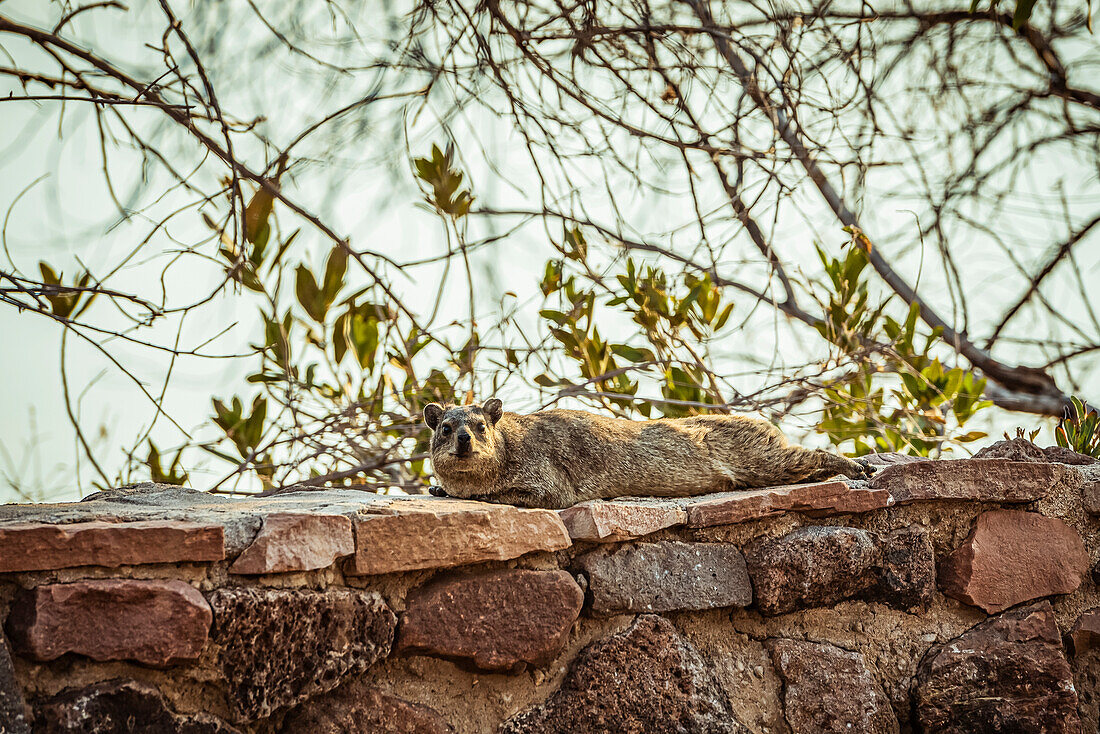
[[277, 513], [264, 517], [260, 534], [229, 570], [242, 574], [312, 571], [353, 552], [355, 538], [348, 517]]

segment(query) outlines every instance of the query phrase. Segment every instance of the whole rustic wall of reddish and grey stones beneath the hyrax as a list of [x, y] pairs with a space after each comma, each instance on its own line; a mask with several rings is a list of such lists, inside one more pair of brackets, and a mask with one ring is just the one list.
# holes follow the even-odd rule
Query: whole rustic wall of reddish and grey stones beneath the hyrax
[[0, 734], [1094, 732], [1100, 464], [1011, 449], [560, 513], [0, 506]]

